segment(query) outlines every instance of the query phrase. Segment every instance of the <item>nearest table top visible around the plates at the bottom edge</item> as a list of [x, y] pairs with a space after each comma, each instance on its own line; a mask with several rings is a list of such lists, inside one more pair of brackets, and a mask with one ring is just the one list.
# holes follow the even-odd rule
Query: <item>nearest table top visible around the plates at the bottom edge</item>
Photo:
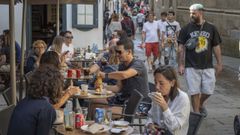
[[[63, 124], [55, 125], [54, 128], [55, 128], [56, 132], [58, 132], [60, 134], [63, 134], [63, 135], [91, 135], [91, 133], [84, 132], [81, 129], [75, 129], [74, 128], [72, 131], [67, 131]], [[134, 132], [134, 129], [132, 127], [128, 126], [128, 129], [126, 131], [121, 132], [118, 135], [130, 135], [133, 132]], [[98, 133], [97, 135], [111, 135], [111, 132], [107, 131], [107, 132], [104, 132], [104, 133]]]

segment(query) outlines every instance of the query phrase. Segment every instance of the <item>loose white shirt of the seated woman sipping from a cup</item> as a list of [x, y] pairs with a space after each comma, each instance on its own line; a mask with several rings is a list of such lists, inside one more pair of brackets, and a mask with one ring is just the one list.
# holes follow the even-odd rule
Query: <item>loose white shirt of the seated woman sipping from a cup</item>
[[188, 95], [178, 89], [179, 94], [173, 101], [168, 101], [168, 109], [162, 112], [161, 107], [152, 102], [149, 110], [149, 123], [165, 126], [173, 135], [187, 135], [190, 115], [190, 101]]

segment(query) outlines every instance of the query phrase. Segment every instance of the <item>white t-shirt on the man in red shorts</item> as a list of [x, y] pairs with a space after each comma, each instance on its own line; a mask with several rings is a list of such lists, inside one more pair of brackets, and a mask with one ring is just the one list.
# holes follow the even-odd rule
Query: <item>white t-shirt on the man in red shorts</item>
[[146, 32], [146, 43], [159, 42], [158, 39], [158, 22], [153, 21], [150, 23], [149, 21], [143, 24], [143, 32]]

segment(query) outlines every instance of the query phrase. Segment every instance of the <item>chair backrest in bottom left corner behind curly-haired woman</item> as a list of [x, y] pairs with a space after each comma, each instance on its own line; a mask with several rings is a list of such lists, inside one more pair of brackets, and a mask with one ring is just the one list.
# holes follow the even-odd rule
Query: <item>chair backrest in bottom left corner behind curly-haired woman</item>
[[15, 105], [10, 105], [0, 111], [0, 135], [7, 135], [8, 125]]

